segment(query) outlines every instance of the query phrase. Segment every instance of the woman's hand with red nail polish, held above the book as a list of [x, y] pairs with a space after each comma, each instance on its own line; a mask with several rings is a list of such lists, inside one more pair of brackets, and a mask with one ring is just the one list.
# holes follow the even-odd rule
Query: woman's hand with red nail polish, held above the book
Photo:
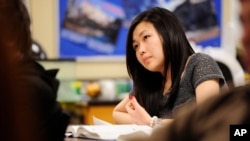
[[126, 104], [126, 110], [135, 124], [150, 125], [151, 116], [137, 102], [134, 96], [130, 97], [129, 102]]

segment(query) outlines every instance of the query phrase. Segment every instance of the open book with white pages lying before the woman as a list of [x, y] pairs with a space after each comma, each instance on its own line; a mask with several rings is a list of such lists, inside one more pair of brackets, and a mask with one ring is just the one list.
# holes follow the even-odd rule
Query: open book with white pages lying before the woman
[[[120, 135], [126, 135], [134, 132], [143, 132], [150, 135], [152, 132], [152, 128], [147, 125], [115, 125], [100, 119], [97, 120], [99, 122], [98, 125], [69, 125], [65, 135], [97, 140], [116, 140]], [[103, 122], [104, 124], [100, 124], [100, 122]]]

